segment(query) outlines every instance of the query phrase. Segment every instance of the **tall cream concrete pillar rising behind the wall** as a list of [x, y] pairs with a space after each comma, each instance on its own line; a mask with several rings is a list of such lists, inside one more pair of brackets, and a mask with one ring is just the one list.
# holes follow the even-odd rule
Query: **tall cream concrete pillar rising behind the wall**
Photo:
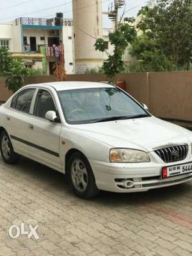
[[95, 41], [102, 38], [101, 0], [73, 0], [76, 73], [101, 67], [102, 52], [95, 51]]

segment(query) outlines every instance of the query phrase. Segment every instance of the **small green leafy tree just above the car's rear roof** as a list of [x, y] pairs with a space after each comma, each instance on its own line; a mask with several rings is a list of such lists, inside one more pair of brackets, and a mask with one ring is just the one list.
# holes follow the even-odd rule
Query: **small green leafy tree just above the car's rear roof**
[[13, 93], [19, 90], [21, 86], [26, 84], [26, 79], [29, 76], [29, 70], [24, 66], [20, 59], [12, 60], [10, 63], [10, 70], [4, 72], [7, 76], [6, 86]]

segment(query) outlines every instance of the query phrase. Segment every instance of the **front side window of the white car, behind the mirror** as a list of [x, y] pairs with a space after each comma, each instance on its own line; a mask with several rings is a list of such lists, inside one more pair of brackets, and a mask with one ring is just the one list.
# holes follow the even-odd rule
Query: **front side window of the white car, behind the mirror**
[[47, 111], [56, 111], [51, 93], [39, 90], [36, 96], [34, 115], [45, 118]]

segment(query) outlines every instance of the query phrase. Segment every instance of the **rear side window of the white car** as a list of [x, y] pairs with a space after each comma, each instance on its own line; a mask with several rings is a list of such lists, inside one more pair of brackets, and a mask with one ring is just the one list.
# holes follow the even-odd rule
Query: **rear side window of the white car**
[[11, 107], [29, 113], [34, 93], [35, 89], [23, 90], [13, 98]]

